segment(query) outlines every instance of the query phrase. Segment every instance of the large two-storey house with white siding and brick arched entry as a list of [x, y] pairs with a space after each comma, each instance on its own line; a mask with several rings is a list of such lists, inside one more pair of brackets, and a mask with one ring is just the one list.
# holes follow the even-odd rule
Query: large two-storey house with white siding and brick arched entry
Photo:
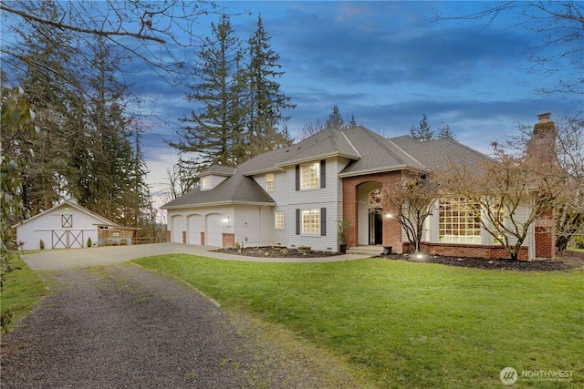
[[[408, 248], [398, 221], [384, 217], [381, 193], [401, 179], [448, 164], [487, 159], [452, 139], [418, 142], [383, 138], [367, 128], [325, 128], [288, 148], [238, 167], [213, 166], [199, 174], [200, 187], [165, 204], [167, 240], [233, 247], [310, 246], [339, 251], [337, 228], [348, 220], [346, 239], [355, 246]], [[480, 208], [459, 198], [437, 204], [426, 220], [422, 250], [435, 254], [506, 257], [506, 251], [476, 222]], [[476, 212], [468, 216], [469, 209]], [[520, 259], [533, 259], [535, 232]]]

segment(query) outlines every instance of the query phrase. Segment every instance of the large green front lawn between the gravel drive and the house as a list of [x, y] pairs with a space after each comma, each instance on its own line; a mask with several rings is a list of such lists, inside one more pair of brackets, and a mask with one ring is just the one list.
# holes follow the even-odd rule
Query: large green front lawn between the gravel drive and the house
[[[173, 274], [229, 310], [284, 325], [379, 387], [500, 387], [506, 367], [573, 371], [584, 384], [584, 271], [481, 271], [370, 259], [136, 263]], [[519, 380], [515, 387], [564, 387]]]

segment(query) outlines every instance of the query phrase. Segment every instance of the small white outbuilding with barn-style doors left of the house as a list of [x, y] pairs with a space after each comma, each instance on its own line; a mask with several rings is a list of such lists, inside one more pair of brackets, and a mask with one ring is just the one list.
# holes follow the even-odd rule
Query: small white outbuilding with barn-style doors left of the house
[[78, 249], [92, 246], [130, 245], [138, 229], [122, 227], [78, 205], [75, 199], [16, 224], [16, 241], [23, 250]]

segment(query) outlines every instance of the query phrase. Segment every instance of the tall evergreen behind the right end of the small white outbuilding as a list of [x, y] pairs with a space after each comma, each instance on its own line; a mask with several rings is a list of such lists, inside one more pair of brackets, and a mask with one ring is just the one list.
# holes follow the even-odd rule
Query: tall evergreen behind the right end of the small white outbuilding
[[[87, 112], [87, 156], [76, 170], [79, 202], [110, 220], [135, 225], [148, 189], [140, 151], [140, 133], [130, 128], [126, 112], [128, 85], [120, 83], [117, 74], [119, 56], [102, 38], [97, 39], [89, 78], [91, 98]], [[132, 144], [134, 142], [134, 144]]]

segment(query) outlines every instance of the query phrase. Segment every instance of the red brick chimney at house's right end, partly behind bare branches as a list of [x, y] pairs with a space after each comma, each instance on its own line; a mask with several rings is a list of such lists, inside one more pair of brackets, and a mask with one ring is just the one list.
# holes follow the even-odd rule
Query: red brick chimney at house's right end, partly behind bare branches
[[[537, 115], [539, 122], [533, 127], [533, 135], [527, 147], [529, 157], [542, 172], [553, 171], [556, 159], [556, 124], [550, 120], [551, 113]], [[556, 255], [555, 212], [549, 210], [538, 215], [536, 220], [536, 258], [553, 258]]]

